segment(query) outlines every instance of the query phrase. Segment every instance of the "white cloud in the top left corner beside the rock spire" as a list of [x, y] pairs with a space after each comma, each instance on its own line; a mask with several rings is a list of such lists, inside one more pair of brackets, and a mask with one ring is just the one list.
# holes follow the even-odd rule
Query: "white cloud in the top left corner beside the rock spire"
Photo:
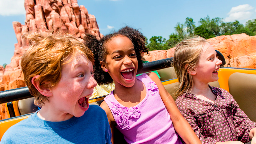
[[0, 15], [25, 15], [24, 0], [0, 0]]

